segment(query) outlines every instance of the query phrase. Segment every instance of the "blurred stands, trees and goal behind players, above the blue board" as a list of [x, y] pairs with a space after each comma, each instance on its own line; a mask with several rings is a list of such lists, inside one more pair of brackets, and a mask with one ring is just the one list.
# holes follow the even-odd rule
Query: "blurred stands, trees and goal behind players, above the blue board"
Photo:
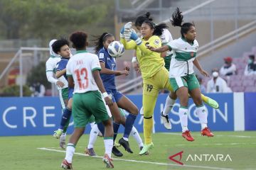
[[[217, 77], [198, 75], [203, 93], [255, 92], [254, 0], [0, 0], [0, 95], [58, 96], [46, 79], [48, 42], [68, 38], [75, 30], [90, 35], [88, 50], [94, 52], [93, 35], [109, 32], [119, 40], [124, 23], [149, 11], [155, 23], [167, 23], [173, 38], [179, 38], [180, 28], [169, 22], [176, 7], [184, 21], [196, 25], [203, 68], [210, 75], [218, 72], [226, 83], [212, 86], [208, 81]], [[132, 56], [127, 50], [117, 69], [132, 67]], [[127, 77], [117, 77], [117, 85], [124, 94], [142, 94], [142, 78], [134, 69]]]

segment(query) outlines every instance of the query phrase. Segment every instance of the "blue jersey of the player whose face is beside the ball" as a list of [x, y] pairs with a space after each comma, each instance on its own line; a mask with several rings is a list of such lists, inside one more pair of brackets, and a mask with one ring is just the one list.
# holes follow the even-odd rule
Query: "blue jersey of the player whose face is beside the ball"
[[[99, 57], [100, 62], [105, 62], [106, 69], [116, 70], [115, 59], [109, 55], [105, 47], [100, 49], [100, 51], [97, 53], [97, 56]], [[114, 83], [114, 74], [100, 74], [100, 77], [103, 81], [105, 89], [116, 89]]]

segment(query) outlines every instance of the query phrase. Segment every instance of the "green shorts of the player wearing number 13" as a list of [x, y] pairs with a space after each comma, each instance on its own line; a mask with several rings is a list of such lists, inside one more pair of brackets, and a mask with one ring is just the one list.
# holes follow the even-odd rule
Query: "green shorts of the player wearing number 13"
[[106, 108], [100, 91], [74, 94], [72, 105], [75, 128], [85, 128], [92, 115], [95, 117], [95, 123], [100, 123], [111, 117], [110, 110]]

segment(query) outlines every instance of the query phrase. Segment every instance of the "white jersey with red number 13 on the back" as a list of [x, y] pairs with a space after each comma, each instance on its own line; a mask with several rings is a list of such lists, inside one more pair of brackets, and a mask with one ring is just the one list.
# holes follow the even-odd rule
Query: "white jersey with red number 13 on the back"
[[97, 55], [86, 50], [77, 51], [67, 64], [67, 76], [74, 80], [74, 94], [84, 94], [87, 91], [99, 91], [92, 72], [101, 70]]

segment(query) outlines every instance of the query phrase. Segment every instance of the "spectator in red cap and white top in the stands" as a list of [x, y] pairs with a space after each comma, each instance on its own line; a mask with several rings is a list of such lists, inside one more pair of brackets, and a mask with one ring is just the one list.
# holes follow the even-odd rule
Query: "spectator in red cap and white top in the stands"
[[220, 75], [222, 76], [230, 76], [236, 74], [235, 64], [232, 63], [232, 57], [225, 57], [225, 64], [220, 68]]

